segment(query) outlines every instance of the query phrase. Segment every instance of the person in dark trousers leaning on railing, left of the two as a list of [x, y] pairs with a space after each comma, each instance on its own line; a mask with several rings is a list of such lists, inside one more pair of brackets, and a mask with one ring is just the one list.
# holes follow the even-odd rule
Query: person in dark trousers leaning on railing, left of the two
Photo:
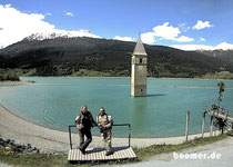
[[[92, 141], [91, 128], [97, 126], [97, 122], [94, 121], [91, 112], [88, 111], [87, 106], [81, 107], [81, 112], [75, 118], [75, 125], [77, 128], [79, 129], [79, 137], [80, 137], [79, 149], [82, 154], [85, 154], [85, 148]], [[87, 137], [85, 141], [84, 141], [84, 136]]]

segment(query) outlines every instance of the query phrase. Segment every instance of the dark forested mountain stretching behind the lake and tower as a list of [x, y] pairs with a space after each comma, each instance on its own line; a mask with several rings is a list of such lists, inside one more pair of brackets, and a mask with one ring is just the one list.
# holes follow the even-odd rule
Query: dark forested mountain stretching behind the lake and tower
[[[36, 76], [68, 76], [80, 69], [130, 76], [135, 42], [88, 37], [33, 35], [0, 49], [0, 69], [34, 69]], [[144, 45], [151, 77], [194, 77], [222, 70], [233, 63], [205, 52]]]

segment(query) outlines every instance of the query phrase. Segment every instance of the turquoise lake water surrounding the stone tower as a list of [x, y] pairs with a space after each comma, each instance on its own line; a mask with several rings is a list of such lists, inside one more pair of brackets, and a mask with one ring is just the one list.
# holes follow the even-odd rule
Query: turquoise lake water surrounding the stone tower
[[[217, 104], [220, 80], [148, 79], [148, 97], [130, 96], [130, 78], [22, 77], [38, 86], [0, 87], [0, 104], [17, 116], [41, 126], [68, 130], [80, 107], [87, 105], [92, 115], [104, 107], [114, 124], [129, 122], [132, 137], [171, 137], [185, 134], [188, 108], [190, 132], [201, 132], [202, 111]], [[50, 84], [50, 85], [48, 85]], [[233, 81], [226, 86], [221, 106], [233, 109]], [[209, 117], [206, 117], [209, 118]], [[206, 119], [209, 130], [210, 119]], [[93, 134], [98, 134], [93, 129]], [[115, 137], [126, 137], [128, 129], [116, 127]]]

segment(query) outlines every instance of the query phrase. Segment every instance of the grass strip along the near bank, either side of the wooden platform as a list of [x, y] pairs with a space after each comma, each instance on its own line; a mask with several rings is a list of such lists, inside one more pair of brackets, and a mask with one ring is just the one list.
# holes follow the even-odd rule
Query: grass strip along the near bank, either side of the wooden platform
[[[111, 161], [108, 165], [125, 164], [125, 163], [136, 163], [140, 160], [149, 159], [150, 157], [159, 154], [168, 154], [173, 151], [179, 151], [185, 148], [192, 148], [195, 146], [203, 146], [207, 144], [213, 144], [215, 141], [222, 140], [229, 136], [233, 136], [233, 132], [223, 134], [216, 137], [205, 137], [195, 138], [194, 140], [183, 143], [180, 145], [153, 145], [146, 148], [133, 148], [138, 159], [134, 161]], [[107, 165], [107, 163], [87, 163], [87, 164], [69, 164], [68, 155], [51, 155], [51, 154], [22, 154], [14, 151], [6, 151], [3, 147], [0, 147], [0, 161], [9, 165], [17, 165], [23, 167], [71, 167], [71, 166], [94, 166], [94, 165]]]

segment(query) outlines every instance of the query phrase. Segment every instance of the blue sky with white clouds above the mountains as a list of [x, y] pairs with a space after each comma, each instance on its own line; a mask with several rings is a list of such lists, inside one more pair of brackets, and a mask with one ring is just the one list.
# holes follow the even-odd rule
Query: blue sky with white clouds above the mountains
[[0, 47], [38, 32], [233, 48], [232, 0], [0, 0]]

